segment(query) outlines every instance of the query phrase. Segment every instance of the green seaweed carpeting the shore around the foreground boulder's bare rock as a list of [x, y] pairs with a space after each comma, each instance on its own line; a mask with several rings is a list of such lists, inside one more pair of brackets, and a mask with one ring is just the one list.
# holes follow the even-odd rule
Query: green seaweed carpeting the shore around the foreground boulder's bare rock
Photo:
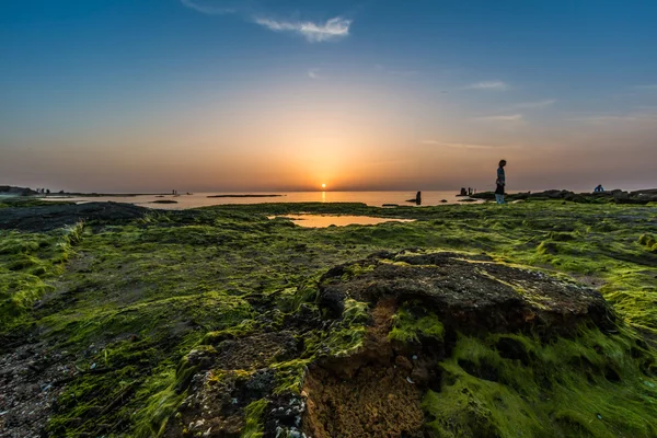
[[[304, 229], [267, 219], [293, 212], [416, 221]], [[649, 339], [657, 334], [657, 254], [647, 243], [656, 215], [655, 205], [534, 200], [505, 208], [263, 204], [45, 233], [0, 231], [0, 334], [37, 333], [85, 371], [57, 401], [51, 436], [157, 436], [184, 395], [193, 368], [181, 364], [189, 350], [283, 330], [301, 310], [319, 313], [313, 302], [328, 268], [382, 250], [484, 253], [598, 288], [627, 327], [618, 335], [589, 330], [553, 344], [505, 335], [523, 346], [519, 358], [503, 356], [502, 335], [461, 336], [441, 364], [442, 391], [425, 396], [431, 427], [443, 436], [480, 426], [492, 436], [650, 436], [655, 426], [644, 418], [656, 417]], [[347, 277], [368, 269], [369, 262], [360, 263]], [[304, 332], [300, 357], [270, 367], [276, 393], [299, 393], [313, 360], [357, 353], [369, 311], [347, 300], [342, 319]], [[440, 342], [443, 330], [410, 303], [390, 337]], [[89, 372], [93, 364], [103, 372]], [[486, 380], [484, 368], [494, 368], [497, 380]], [[122, 403], [113, 405], [117, 397]]]

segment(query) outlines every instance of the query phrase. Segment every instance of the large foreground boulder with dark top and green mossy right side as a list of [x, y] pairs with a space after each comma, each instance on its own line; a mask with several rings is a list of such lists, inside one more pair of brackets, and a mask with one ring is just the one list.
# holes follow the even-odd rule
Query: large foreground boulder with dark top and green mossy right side
[[[307, 287], [299, 293], [312, 296]], [[330, 269], [314, 303], [258, 321], [212, 333], [187, 356], [172, 395], [182, 403], [152, 430], [657, 434], [654, 350], [619, 325], [596, 290], [544, 272], [485, 255], [380, 253]]]

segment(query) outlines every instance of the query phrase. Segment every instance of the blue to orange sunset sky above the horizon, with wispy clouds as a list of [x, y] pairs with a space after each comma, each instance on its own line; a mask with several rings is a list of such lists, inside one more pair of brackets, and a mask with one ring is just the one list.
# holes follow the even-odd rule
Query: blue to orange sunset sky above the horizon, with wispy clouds
[[654, 0], [0, 0], [0, 185], [657, 187]]

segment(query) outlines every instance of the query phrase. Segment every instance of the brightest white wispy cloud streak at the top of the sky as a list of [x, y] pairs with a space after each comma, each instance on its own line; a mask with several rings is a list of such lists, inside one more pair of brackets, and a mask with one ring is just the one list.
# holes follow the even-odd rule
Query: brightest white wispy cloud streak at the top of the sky
[[311, 43], [344, 38], [349, 35], [351, 20], [335, 16], [326, 22], [277, 20], [269, 16], [256, 0], [180, 0], [183, 5], [208, 15], [238, 14], [274, 32], [302, 35]]

